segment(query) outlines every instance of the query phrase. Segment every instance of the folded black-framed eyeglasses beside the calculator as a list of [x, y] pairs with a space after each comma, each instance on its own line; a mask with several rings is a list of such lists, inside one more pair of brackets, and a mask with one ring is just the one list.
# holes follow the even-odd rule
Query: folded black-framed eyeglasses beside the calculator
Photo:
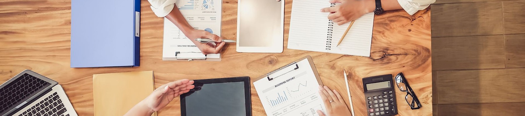
[[408, 85], [408, 82], [406, 82], [406, 78], [403, 73], [399, 73], [397, 76], [395, 76], [395, 82], [399, 90], [406, 92], [405, 100], [406, 103], [408, 103], [408, 106], [410, 106], [412, 110], [421, 108], [421, 102], [419, 102], [419, 99], [417, 99], [414, 90], [412, 90], [412, 88]]

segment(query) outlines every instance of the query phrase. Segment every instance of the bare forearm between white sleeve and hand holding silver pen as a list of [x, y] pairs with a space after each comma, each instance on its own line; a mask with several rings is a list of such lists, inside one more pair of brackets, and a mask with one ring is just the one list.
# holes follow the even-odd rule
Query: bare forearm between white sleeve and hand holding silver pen
[[166, 15], [166, 18], [175, 24], [178, 29], [181, 29], [184, 34], [188, 34], [190, 31], [194, 30], [193, 27], [188, 24], [184, 16], [182, 16], [181, 11], [178, 10], [176, 5], [173, 10], [171, 10], [170, 14]]

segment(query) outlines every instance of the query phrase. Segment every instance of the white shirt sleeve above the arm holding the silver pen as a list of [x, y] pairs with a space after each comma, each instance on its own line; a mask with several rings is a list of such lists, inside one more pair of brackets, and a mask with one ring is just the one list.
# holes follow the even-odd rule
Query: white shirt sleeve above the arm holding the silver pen
[[173, 7], [175, 7], [175, 2], [177, 0], [148, 0], [151, 4], [151, 10], [158, 17], [165, 17], [167, 14], [170, 14]]

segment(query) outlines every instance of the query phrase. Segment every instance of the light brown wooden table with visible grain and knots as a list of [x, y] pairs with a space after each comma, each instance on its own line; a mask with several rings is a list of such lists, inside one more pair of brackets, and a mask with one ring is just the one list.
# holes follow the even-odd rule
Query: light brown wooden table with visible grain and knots
[[[102, 4], [102, 3], [101, 3]], [[365, 115], [363, 77], [403, 72], [423, 107], [411, 110], [405, 92], [396, 90], [401, 115], [432, 115], [432, 62], [430, 57], [430, 8], [410, 16], [403, 10], [376, 15], [370, 57], [289, 50], [287, 38], [291, 0], [286, 0], [285, 50], [282, 53], [237, 53], [228, 44], [221, 62], [162, 61], [163, 18], [156, 17], [146, 0], [141, 3], [141, 59], [139, 67], [70, 68], [71, 1], [0, 1], [0, 83], [24, 69], [59, 82], [80, 115], [93, 115], [92, 75], [154, 71], [155, 86], [178, 79], [233, 76], [256, 78], [291, 61], [311, 55], [323, 84], [344, 92], [346, 69], [356, 115]], [[237, 1], [223, 1], [222, 36], [236, 38]], [[207, 70], [208, 73], [197, 71]], [[252, 85], [253, 86], [253, 85]], [[265, 115], [255, 88], [251, 88], [253, 115]], [[159, 115], [180, 115], [176, 99]]]

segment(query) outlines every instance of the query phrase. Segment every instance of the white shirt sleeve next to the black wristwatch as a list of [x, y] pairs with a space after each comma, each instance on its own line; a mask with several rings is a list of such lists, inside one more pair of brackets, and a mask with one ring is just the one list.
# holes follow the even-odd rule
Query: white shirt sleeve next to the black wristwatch
[[397, 2], [405, 9], [406, 13], [414, 15], [418, 10], [427, 8], [436, 0], [397, 0]]

